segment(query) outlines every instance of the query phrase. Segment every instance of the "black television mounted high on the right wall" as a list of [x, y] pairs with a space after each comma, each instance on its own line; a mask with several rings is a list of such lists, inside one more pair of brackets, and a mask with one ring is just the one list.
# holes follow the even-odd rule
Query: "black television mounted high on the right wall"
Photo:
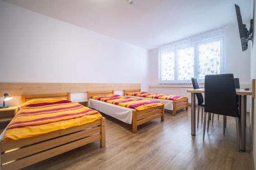
[[237, 4], [234, 4], [234, 7], [236, 8], [237, 13], [242, 51], [245, 51], [248, 48], [248, 41], [253, 38], [253, 19], [250, 20], [250, 30], [248, 31], [246, 25], [243, 23], [240, 7]]

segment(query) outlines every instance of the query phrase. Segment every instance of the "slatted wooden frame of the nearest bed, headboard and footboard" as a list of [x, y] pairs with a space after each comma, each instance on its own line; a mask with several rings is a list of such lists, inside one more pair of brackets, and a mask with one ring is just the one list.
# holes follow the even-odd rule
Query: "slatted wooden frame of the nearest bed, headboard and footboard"
[[[22, 95], [23, 102], [37, 98], [70, 100], [70, 93]], [[97, 140], [100, 140], [100, 147], [105, 147], [104, 117], [93, 123], [36, 137], [2, 141], [0, 169], [20, 169]]]

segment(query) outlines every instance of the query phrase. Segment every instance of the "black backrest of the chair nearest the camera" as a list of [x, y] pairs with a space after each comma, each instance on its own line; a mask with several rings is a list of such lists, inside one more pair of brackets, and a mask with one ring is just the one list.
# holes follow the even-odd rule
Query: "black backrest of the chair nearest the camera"
[[233, 74], [205, 76], [205, 112], [238, 117]]

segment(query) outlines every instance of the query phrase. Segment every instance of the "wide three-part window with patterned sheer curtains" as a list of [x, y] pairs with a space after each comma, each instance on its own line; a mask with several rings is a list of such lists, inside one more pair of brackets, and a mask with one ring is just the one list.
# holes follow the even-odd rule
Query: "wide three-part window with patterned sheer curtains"
[[205, 75], [221, 74], [223, 36], [218, 35], [213, 38], [196, 36], [160, 47], [159, 82], [184, 84], [197, 78], [199, 83], [204, 83]]

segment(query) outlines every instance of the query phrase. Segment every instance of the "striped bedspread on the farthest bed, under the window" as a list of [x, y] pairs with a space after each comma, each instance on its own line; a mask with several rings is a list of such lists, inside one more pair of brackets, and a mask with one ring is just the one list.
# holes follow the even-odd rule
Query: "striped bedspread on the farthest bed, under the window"
[[129, 93], [127, 95], [138, 96], [141, 98], [163, 99], [163, 100], [171, 100], [171, 101], [178, 101], [180, 99], [187, 98], [186, 96], [182, 96], [182, 95], [167, 95], [167, 94], [158, 94], [158, 93], [148, 93], [144, 91]]

